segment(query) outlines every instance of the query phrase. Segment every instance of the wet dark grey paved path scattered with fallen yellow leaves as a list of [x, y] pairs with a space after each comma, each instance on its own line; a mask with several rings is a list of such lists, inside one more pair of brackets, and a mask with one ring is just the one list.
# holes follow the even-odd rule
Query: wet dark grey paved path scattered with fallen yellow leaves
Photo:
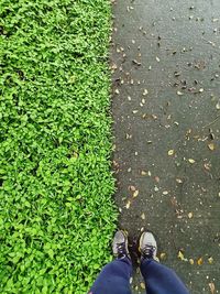
[[220, 1], [118, 0], [113, 14], [120, 227], [133, 252], [153, 230], [190, 293], [220, 293]]

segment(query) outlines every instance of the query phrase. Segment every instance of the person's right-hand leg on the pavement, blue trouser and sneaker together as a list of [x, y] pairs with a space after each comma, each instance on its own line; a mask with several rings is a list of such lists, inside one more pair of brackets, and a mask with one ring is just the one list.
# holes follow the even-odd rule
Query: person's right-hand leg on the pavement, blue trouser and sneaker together
[[143, 232], [140, 239], [141, 272], [147, 294], [189, 294], [176, 275], [165, 265], [155, 261], [157, 244], [152, 232]]

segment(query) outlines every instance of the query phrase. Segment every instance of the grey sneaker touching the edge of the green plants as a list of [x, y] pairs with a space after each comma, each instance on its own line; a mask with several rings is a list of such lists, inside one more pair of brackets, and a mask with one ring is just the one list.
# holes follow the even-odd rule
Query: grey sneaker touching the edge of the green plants
[[114, 257], [117, 257], [118, 259], [121, 258], [130, 259], [128, 243], [129, 243], [128, 233], [122, 230], [117, 231], [112, 242], [112, 250]]

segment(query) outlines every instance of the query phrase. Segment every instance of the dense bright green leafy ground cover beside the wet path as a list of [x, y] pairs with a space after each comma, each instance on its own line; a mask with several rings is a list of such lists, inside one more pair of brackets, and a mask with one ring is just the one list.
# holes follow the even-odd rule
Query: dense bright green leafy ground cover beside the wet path
[[0, 0], [0, 293], [82, 294], [111, 259], [108, 0]]

